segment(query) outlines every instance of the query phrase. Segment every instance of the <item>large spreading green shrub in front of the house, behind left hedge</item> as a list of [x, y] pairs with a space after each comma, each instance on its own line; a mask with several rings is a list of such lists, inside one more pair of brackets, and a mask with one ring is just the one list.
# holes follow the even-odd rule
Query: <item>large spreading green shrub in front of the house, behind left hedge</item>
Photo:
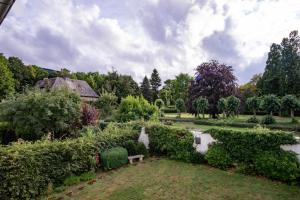
[[37, 140], [51, 133], [70, 136], [80, 120], [80, 97], [68, 90], [27, 91], [0, 103], [0, 119], [18, 137]]

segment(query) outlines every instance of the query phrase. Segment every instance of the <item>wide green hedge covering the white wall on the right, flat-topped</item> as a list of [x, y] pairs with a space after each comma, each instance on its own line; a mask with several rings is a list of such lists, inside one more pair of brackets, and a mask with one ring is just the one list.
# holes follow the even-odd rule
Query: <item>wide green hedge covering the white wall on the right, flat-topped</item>
[[292, 133], [266, 129], [210, 129], [207, 131], [220, 142], [231, 158], [238, 163], [253, 163], [262, 151], [279, 150], [280, 145], [296, 144]]

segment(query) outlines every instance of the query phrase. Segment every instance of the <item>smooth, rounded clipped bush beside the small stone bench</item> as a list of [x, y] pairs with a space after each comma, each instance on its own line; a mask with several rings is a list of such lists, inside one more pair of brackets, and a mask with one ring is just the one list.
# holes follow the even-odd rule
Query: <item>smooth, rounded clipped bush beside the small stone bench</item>
[[128, 152], [125, 148], [115, 147], [101, 153], [101, 164], [105, 170], [119, 168], [128, 162]]

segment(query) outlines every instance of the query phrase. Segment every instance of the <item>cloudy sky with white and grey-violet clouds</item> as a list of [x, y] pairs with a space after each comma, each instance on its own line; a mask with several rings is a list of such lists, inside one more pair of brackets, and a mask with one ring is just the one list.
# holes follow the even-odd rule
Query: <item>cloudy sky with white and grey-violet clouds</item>
[[138, 82], [154, 67], [165, 80], [217, 59], [245, 83], [264, 70], [271, 43], [297, 29], [299, 0], [17, 0], [0, 52]]

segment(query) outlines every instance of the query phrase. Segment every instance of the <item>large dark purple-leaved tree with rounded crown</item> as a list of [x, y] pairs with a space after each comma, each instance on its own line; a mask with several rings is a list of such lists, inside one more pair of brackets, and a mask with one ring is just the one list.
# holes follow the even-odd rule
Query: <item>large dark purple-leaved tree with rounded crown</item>
[[202, 63], [196, 69], [196, 78], [189, 87], [188, 111], [195, 113], [193, 102], [200, 96], [209, 102], [209, 112], [216, 118], [218, 101], [222, 97], [234, 95], [237, 91], [236, 78], [231, 66], [220, 64], [216, 60]]

